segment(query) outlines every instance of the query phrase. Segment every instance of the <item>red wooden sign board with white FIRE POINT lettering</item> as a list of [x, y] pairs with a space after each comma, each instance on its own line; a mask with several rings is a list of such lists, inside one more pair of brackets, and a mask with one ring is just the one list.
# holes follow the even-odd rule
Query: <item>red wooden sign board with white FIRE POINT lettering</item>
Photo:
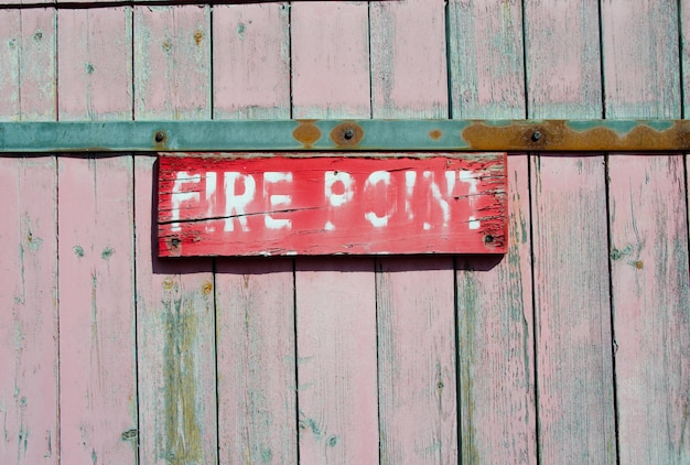
[[161, 257], [504, 253], [505, 153], [159, 158]]

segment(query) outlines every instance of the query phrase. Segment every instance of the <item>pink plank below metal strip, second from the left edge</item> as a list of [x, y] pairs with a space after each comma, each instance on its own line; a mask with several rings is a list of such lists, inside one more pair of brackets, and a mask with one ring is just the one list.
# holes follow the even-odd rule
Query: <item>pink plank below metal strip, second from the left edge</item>
[[137, 457], [132, 159], [61, 158], [61, 458]]

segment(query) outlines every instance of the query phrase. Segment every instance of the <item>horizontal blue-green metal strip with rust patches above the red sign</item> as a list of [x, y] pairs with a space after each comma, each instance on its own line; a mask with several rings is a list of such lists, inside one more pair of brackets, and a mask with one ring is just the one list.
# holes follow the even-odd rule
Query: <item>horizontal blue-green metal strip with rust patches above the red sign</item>
[[690, 120], [0, 122], [0, 152], [690, 151]]

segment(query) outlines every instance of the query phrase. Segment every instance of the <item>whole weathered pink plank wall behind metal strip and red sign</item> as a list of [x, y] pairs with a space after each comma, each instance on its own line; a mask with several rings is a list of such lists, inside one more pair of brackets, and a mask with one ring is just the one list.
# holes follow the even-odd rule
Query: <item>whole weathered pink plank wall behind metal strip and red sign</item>
[[[1, 120], [689, 105], [690, 0], [11, 3]], [[690, 463], [688, 159], [508, 169], [504, 257], [166, 261], [153, 156], [3, 154], [0, 463]]]

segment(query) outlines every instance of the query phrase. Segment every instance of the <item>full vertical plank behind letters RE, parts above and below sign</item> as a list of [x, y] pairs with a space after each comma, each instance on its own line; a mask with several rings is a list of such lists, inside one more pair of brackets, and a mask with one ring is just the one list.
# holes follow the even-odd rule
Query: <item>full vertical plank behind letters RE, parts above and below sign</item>
[[[216, 6], [214, 117], [289, 118], [289, 6]], [[219, 461], [298, 462], [290, 259], [216, 263]]]

